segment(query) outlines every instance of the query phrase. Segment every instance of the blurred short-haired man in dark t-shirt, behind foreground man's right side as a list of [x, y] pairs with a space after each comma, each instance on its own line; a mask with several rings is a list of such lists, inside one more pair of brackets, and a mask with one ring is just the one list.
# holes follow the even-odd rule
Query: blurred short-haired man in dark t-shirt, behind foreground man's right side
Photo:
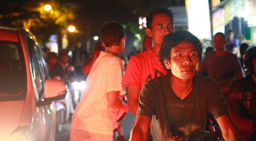
[[216, 51], [206, 54], [199, 67], [205, 70], [209, 77], [216, 79], [223, 93], [226, 93], [234, 80], [241, 79], [242, 67], [236, 55], [225, 50], [225, 35], [217, 33], [214, 36]]

